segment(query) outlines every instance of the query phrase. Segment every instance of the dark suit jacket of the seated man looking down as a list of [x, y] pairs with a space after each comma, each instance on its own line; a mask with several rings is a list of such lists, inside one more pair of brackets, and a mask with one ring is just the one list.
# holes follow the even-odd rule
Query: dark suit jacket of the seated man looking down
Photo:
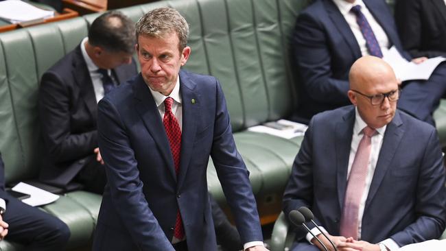
[[[137, 74], [134, 60], [113, 70], [118, 83]], [[47, 150], [40, 180], [64, 187], [80, 169], [96, 161], [97, 101], [80, 45], [43, 74], [38, 108]]]

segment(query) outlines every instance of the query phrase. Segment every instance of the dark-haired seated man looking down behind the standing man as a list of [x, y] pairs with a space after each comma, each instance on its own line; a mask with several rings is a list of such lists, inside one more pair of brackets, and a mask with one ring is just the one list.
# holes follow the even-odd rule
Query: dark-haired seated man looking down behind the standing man
[[106, 12], [93, 21], [88, 38], [43, 74], [38, 108], [47, 152], [41, 181], [66, 189], [75, 181], [102, 194], [97, 102], [137, 74], [135, 44], [134, 23], [121, 12]]

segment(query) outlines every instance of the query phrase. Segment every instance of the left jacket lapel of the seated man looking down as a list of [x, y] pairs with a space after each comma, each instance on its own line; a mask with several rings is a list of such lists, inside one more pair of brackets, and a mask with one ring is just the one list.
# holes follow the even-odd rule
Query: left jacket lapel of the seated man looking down
[[93, 117], [93, 123], [96, 125], [97, 118], [97, 101], [95, 96], [95, 90], [93, 88], [93, 82], [91, 82], [90, 72], [84, 57], [80, 45], [75, 49], [75, 60], [73, 62], [73, 77], [76, 84], [79, 86], [80, 97], [84, 99], [87, 109], [89, 110], [91, 117]]

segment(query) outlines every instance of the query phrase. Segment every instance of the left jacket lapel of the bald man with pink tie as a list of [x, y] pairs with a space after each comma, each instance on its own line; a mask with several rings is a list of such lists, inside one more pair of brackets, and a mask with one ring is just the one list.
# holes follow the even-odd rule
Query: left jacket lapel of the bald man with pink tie
[[349, 168], [349, 156], [351, 139], [353, 137], [353, 125], [355, 123], [355, 108], [352, 108], [342, 117], [342, 121], [336, 125], [336, 181], [340, 211], [344, 205], [344, 196], [347, 189], [347, 169]]

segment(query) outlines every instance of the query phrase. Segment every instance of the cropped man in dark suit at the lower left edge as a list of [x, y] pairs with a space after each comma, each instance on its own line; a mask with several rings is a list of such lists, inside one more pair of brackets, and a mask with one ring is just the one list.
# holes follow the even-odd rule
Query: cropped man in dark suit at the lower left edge
[[0, 154], [0, 241], [20, 243], [28, 251], [64, 250], [70, 230], [60, 219], [5, 192], [5, 167]]

